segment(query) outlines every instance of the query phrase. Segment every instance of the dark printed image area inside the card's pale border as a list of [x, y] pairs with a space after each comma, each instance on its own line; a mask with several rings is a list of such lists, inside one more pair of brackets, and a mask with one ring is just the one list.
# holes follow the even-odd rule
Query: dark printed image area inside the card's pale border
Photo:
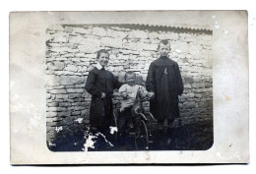
[[210, 148], [212, 39], [212, 29], [196, 25], [48, 27], [48, 148]]

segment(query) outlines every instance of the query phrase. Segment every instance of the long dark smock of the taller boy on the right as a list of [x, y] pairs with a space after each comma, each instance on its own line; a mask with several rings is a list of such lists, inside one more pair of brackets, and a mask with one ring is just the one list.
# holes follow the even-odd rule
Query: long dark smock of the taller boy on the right
[[148, 91], [154, 91], [150, 109], [160, 121], [179, 117], [178, 95], [183, 92], [183, 82], [178, 64], [168, 57], [160, 57], [151, 63], [146, 80]]

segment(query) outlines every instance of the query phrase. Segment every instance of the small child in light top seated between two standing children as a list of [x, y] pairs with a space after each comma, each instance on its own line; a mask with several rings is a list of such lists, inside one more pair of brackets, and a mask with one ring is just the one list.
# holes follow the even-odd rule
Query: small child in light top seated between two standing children
[[119, 88], [119, 92], [123, 96], [121, 100], [120, 114], [118, 117], [118, 132], [119, 135], [124, 135], [125, 128], [128, 125], [133, 128], [132, 122], [132, 107], [135, 103], [138, 90], [141, 91], [143, 96], [148, 94], [145, 87], [135, 84], [136, 74], [134, 72], [127, 72], [124, 76], [126, 84]]

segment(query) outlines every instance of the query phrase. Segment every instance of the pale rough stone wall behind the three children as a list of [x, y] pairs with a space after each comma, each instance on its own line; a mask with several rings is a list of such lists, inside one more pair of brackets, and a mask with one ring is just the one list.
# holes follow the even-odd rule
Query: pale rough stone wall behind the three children
[[[108, 70], [116, 77], [135, 71], [145, 83], [158, 58], [161, 39], [184, 83], [176, 126], [213, 120], [212, 31], [139, 25], [55, 25], [46, 29], [47, 141], [83, 131], [89, 123], [91, 95], [85, 90], [96, 51], [109, 50]], [[122, 80], [122, 78], [120, 78]]]

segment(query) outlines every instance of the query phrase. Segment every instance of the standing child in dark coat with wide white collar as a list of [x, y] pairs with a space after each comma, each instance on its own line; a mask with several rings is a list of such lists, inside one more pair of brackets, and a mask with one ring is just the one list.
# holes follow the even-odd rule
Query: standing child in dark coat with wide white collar
[[96, 67], [89, 72], [86, 83], [86, 90], [92, 94], [91, 130], [107, 135], [110, 132], [109, 126], [113, 118], [111, 94], [115, 88], [119, 88], [122, 84], [111, 72], [104, 69], [109, 61], [109, 54], [106, 50], [97, 51], [96, 59]]

